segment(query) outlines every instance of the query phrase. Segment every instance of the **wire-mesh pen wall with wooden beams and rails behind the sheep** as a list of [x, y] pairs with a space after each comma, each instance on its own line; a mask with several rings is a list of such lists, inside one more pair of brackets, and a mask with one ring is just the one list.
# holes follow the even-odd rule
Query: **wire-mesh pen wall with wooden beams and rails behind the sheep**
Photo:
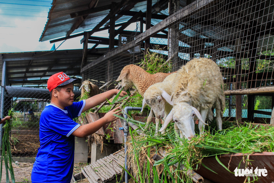
[[224, 78], [224, 117], [269, 123], [274, 105], [273, 1], [170, 1], [169, 10], [166, 19], [145, 32], [140, 21], [135, 34], [119, 35], [118, 47], [99, 59], [89, 62], [87, 57], [83, 79], [114, 81], [125, 65], [144, 59], [147, 49], [169, 60], [172, 71], [192, 58], [207, 57]]

